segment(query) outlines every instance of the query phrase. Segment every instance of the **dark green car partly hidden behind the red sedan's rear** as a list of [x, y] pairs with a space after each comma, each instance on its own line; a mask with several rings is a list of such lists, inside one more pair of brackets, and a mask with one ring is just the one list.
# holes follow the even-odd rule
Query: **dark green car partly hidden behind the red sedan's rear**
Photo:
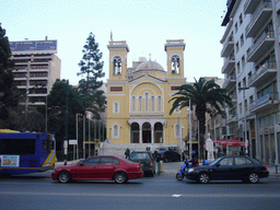
[[129, 160], [136, 163], [142, 163], [144, 174], [153, 176], [155, 174], [155, 161], [149, 151], [133, 151], [129, 155]]

